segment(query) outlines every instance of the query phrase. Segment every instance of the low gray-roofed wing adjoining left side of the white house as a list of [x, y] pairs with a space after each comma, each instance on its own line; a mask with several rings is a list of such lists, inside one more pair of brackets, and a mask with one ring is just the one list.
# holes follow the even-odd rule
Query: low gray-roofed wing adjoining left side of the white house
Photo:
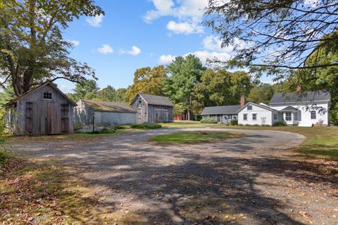
[[241, 108], [241, 105], [223, 105], [206, 107], [201, 113], [203, 119], [212, 119], [217, 122], [227, 123], [230, 120], [238, 118], [237, 110]]

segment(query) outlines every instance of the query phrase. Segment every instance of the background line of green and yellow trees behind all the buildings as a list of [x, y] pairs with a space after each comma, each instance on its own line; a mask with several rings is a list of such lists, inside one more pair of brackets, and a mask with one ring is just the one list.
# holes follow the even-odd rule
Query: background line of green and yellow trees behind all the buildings
[[[187, 112], [196, 115], [207, 106], [237, 105], [242, 95], [253, 103], [270, 103], [275, 92], [295, 91], [297, 86], [301, 86], [302, 91], [323, 89], [331, 92], [330, 117], [332, 123], [338, 124], [337, 81], [330, 80], [330, 74], [334, 72], [336, 71], [297, 70], [292, 77], [271, 85], [261, 83], [259, 77], [251, 77], [245, 71], [205, 68], [199, 58], [189, 55], [175, 58], [167, 67], [158, 65], [136, 70], [133, 84], [127, 88], [115, 89], [108, 85], [100, 89], [92, 79], [82, 85], [76, 84], [73, 93], [68, 96], [75, 102], [87, 99], [127, 104], [131, 103], [138, 92], [168, 96], [175, 103], [175, 115]], [[3, 104], [14, 96], [11, 87], [5, 88], [0, 92], [0, 103]], [[187, 113], [187, 116], [190, 114]]]

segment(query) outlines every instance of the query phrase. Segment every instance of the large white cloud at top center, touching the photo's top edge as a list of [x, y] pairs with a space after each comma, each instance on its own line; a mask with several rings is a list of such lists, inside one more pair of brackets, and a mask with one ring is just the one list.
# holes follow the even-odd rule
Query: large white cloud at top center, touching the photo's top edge
[[199, 26], [204, 15], [204, 8], [208, 6], [208, 0], [151, 0], [155, 6], [154, 10], [147, 11], [144, 21], [151, 21], [163, 16], [172, 16], [179, 21], [170, 21], [168, 30], [175, 34], [194, 34], [204, 31]]

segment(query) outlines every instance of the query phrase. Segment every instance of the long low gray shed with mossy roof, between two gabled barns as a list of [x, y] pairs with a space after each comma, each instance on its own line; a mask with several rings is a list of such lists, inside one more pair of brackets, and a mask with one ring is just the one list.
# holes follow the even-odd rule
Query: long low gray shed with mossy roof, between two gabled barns
[[79, 100], [75, 107], [75, 124], [89, 125], [134, 124], [136, 110], [124, 103], [110, 101]]

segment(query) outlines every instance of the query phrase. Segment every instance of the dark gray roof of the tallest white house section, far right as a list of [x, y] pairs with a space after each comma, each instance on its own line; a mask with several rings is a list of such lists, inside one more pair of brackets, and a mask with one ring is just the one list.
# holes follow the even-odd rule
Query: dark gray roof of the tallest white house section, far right
[[307, 91], [302, 94], [275, 93], [273, 95], [273, 98], [271, 98], [270, 104], [330, 101], [330, 98], [331, 98], [331, 94], [327, 91]]

